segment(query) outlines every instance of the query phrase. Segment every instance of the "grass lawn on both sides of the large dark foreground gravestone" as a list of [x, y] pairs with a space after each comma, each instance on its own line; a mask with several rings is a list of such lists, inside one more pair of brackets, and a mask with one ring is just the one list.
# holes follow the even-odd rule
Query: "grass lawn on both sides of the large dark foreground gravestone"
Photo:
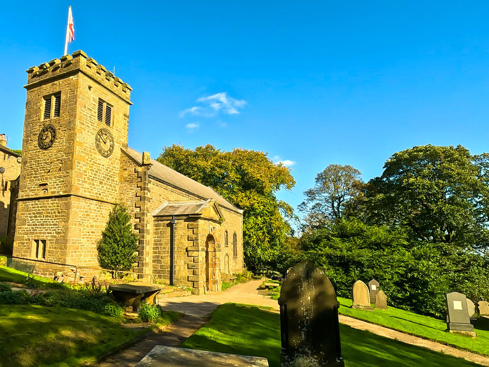
[[[347, 367], [479, 366], [346, 325], [340, 325], [340, 333]], [[266, 357], [270, 367], [279, 367], [280, 317], [256, 306], [226, 303], [218, 307], [211, 320], [181, 346]]]

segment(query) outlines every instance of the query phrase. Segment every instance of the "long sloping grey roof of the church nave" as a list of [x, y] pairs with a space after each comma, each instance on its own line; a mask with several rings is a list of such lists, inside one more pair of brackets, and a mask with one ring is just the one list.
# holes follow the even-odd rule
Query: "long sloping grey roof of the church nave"
[[[142, 164], [142, 154], [137, 150], [128, 147], [127, 150], [123, 149], [123, 151], [133, 161], [137, 162], [139, 165]], [[243, 213], [243, 210], [238, 209], [236, 206], [229, 203], [211, 187], [200, 184], [154, 159], [151, 160], [151, 166], [148, 173], [151, 178], [162, 182], [163, 184], [173, 186], [203, 200], [215, 199], [216, 203], [220, 206], [238, 213]]]

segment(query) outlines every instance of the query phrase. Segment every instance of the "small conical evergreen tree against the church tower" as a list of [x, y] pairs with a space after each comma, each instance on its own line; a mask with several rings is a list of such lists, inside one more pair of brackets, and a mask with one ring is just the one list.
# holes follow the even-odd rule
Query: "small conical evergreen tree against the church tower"
[[[116, 204], [97, 242], [98, 263], [103, 269], [130, 271], [136, 260], [137, 235], [124, 204]], [[118, 273], [114, 274], [114, 277]]]

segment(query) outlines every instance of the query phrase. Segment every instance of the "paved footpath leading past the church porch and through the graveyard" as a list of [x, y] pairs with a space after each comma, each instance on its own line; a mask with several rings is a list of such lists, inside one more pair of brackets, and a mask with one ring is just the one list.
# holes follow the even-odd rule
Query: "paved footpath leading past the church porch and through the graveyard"
[[[193, 335], [207, 321], [208, 317], [218, 306], [226, 302], [254, 304], [258, 306], [273, 307], [278, 312], [279, 306], [275, 299], [258, 294], [258, 286], [263, 280], [252, 280], [244, 284], [237, 284], [223, 292], [210, 292], [204, 296], [188, 296], [178, 298], [162, 298], [159, 304], [164, 310], [178, 311], [185, 314], [179, 321], [159, 334], [151, 334], [141, 342], [112, 356], [100, 367], [133, 367], [156, 345], [178, 346], [182, 341]], [[443, 344], [431, 342], [386, 327], [374, 325], [365, 321], [356, 320], [339, 315], [339, 321], [355, 329], [370, 331], [371, 333], [396, 339], [400, 342], [421, 346], [437, 352], [464, 358], [467, 361], [489, 367], [489, 358], [464, 350], [452, 348]]]

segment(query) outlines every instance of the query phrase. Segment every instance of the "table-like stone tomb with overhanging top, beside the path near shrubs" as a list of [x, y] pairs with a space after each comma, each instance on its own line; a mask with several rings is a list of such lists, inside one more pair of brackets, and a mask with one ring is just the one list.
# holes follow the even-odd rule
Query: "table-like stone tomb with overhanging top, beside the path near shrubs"
[[164, 285], [145, 282], [111, 284], [109, 286], [109, 290], [112, 291], [115, 300], [125, 306], [132, 306], [133, 312], [139, 311], [139, 303], [143, 299], [148, 304], [155, 303], [156, 295], [163, 288], [165, 288]]

